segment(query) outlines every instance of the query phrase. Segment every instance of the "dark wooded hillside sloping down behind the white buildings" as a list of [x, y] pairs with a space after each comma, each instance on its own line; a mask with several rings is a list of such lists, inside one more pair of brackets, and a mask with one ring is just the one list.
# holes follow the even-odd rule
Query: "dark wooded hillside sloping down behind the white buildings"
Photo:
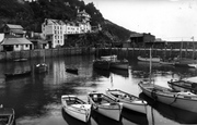
[[[93, 3], [85, 4], [81, 0], [37, 0], [24, 2], [23, 0], [0, 0], [0, 25], [4, 23], [22, 25], [25, 30], [40, 33], [40, 25], [45, 18], [76, 21], [77, 12], [85, 10], [91, 15], [91, 25], [102, 26], [101, 37], [92, 35], [92, 39], [104, 41], [126, 41], [130, 32], [103, 17]], [[89, 38], [89, 37], [88, 37]]]

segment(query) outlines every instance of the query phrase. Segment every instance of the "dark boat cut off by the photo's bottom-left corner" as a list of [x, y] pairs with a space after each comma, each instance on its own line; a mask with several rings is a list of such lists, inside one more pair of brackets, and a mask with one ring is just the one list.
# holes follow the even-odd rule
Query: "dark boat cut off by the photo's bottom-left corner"
[[0, 125], [14, 125], [15, 112], [12, 108], [3, 108], [0, 105]]

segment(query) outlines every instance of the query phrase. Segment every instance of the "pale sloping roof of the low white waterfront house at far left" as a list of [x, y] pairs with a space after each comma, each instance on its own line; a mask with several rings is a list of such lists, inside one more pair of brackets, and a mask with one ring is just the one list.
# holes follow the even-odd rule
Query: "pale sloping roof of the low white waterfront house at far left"
[[26, 38], [4, 38], [2, 46], [7, 45], [32, 45]]

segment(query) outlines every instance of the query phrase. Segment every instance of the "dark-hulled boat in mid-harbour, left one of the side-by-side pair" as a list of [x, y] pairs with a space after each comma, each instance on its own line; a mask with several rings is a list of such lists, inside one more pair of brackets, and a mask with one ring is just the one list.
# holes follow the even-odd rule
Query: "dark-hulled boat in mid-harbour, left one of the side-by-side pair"
[[100, 70], [109, 70], [111, 62], [104, 60], [93, 60], [93, 67]]

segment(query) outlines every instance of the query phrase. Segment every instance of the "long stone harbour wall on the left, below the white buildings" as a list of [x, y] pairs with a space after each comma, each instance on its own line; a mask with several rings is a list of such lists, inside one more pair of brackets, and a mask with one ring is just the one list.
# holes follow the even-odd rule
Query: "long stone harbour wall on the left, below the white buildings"
[[22, 51], [5, 51], [0, 52], [0, 61], [12, 61], [16, 59], [39, 59], [39, 58], [56, 58], [66, 55], [83, 55], [93, 54], [94, 48], [58, 48], [58, 49], [36, 49]]

